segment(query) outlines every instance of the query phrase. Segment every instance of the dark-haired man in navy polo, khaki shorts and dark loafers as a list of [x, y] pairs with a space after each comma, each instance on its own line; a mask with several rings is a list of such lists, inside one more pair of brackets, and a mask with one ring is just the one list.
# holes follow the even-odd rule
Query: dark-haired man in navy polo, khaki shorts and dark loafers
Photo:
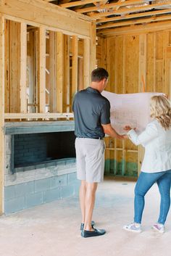
[[107, 86], [108, 72], [96, 68], [91, 73], [91, 86], [75, 94], [72, 110], [75, 116], [75, 149], [77, 176], [81, 180], [81, 236], [101, 236], [104, 229], [93, 228], [93, 207], [97, 184], [104, 178], [104, 133], [123, 139], [110, 124], [110, 104], [101, 95]]

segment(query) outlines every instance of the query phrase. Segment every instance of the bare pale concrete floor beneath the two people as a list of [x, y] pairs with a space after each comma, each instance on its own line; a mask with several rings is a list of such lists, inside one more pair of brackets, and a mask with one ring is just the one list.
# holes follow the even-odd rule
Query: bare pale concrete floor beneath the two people
[[107, 234], [80, 236], [78, 198], [64, 199], [0, 218], [2, 256], [170, 256], [171, 214], [165, 234], [151, 230], [159, 212], [154, 186], [146, 196], [143, 232], [132, 234], [122, 226], [133, 220], [135, 181], [106, 178], [99, 184], [93, 220]]

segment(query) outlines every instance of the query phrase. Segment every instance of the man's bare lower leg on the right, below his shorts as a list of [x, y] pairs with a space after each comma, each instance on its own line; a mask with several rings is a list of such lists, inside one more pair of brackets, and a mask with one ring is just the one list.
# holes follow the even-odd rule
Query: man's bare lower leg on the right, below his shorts
[[96, 189], [98, 183], [86, 182], [86, 198], [85, 198], [85, 219], [84, 219], [84, 230], [93, 231], [91, 226], [91, 220], [93, 215], [93, 207], [96, 197]]

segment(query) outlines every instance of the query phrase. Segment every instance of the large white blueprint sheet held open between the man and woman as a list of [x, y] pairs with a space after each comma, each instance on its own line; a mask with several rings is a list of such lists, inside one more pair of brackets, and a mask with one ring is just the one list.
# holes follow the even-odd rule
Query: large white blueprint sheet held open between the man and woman
[[113, 94], [109, 91], [101, 93], [111, 105], [111, 125], [117, 133], [124, 134], [125, 125], [136, 128], [141, 133], [150, 122], [149, 102], [151, 96], [162, 93]]

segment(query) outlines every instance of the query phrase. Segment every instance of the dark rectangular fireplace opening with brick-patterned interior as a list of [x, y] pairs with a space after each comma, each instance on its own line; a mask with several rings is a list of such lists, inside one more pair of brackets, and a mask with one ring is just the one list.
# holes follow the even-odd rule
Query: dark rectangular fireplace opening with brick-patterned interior
[[74, 131], [17, 134], [13, 137], [14, 168], [75, 157]]

